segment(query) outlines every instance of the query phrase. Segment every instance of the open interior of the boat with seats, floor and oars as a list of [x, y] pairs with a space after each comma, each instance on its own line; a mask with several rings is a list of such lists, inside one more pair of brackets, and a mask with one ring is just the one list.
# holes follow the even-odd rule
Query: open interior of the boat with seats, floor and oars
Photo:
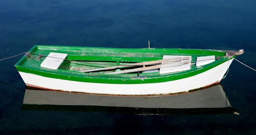
[[24, 55], [19, 66], [90, 74], [172, 74], [212, 66], [227, 59], [223, 57], [225, 51], [209, 49], [34, 46], [29, 52], [32, 53]]

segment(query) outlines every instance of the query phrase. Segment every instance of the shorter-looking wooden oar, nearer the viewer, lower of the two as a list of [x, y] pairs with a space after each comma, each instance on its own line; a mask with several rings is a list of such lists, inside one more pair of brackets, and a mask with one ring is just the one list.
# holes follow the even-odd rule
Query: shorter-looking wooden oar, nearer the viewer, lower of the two
[[187, 64], [190, 61], [179, 61], [179, 62], [174, 62], [174, 63], [165, 63], [161, 65], [154, 65], [154, 66], [148, 66], [148, 67], [142, 67], [142, 68], [136, 68], [136, 69], [127, 69], [127, 70], [122, 70], [119, 72], [111, 72], [111, 73], [106, 73], [106, 74], [124, 74], [124, 73], [130, 73], [130, 72], [138, 72], [138, 71], [143, 71], [143, 70], [150, 70], [150, 69], [159, 69], [159, 68], [165, 68], [165, 67], [172, 67], [172, 66], [181, 66], [183, 64]]

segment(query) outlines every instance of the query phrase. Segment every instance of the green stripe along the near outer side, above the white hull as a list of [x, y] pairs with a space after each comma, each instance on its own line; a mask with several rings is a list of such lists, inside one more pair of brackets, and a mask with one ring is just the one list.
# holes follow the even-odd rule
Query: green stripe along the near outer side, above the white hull
[[[188, 78], [194, 75], [198, 75], [201, 74], [209, 69], [212, 69], [218, 65], [220, 65], [221, 63], [226, 62], [227, 60], [224, 60], [220, 63], [217, 63], [213, 66], [209, 66], [207, 68], [203, 68], [203, 69], [198, 69], [192, 72], [184, 72], [182, 74], [171, 74], [171, 75], [163, 75], [160, 77], [152, 77], [152, 78], [111, 78], [111, 75], [109, 75], [108, 77], [99, 77], [100, 75], [84, 75], [83, 77], [78, 76], [78, 75], [70, 75], [69, 72], [65, 72], [65, 71], [59, 71], [59, 74], [56, 74], [54, 72], [43, 72], [43, 71], [37, 71], [37, 70], [33, 70], [33, 69], [26, 69], [23, 67], [17, 67], [17, 70], [19, 72], [25, 72], [25, 73], [30, 73], [30, 74], [35, 74], [35, 75], [40, 75], [43, 77], [47, 77], [47, 78], [55, 78], [55, 79], [62, 79], [62, 80], [73, 80], [73, 81], [79, 81], [79, 82], [87, 82], [87, 83], [111, 83], [111, 84], [142, 84], [142, 83], [162, 83], [162, 82], [167, 82], [167, 81], [172, 81], [172, 80], [179, 80], [179, 79], [183, 79], [183, 78]], [[61, 72], [63, 74], [61, 74]], [[137, 74], [134, 74], [134, 77], [137, 77]], [[40, 80], [38, 80], [40, 81]]]

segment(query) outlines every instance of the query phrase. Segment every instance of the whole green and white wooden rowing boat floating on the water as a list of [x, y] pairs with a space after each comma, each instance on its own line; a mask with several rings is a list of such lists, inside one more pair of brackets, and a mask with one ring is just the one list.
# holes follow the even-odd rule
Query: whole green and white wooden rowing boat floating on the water
[[26, 86], [101, 95], [169, 95], [220, 83], [244, 51], [33, 46], [15, 64]]

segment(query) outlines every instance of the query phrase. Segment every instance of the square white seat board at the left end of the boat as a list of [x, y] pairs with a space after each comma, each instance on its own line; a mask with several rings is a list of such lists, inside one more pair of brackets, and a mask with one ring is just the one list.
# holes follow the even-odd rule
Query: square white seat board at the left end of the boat
[[40, 66], [56, 70], [59, 66], [61, 66], [61, 63], [63, 62], [63, 59], [67, 57], [67, 54], [50, 52], [48, 56], [50, 57], [46, 57]]

